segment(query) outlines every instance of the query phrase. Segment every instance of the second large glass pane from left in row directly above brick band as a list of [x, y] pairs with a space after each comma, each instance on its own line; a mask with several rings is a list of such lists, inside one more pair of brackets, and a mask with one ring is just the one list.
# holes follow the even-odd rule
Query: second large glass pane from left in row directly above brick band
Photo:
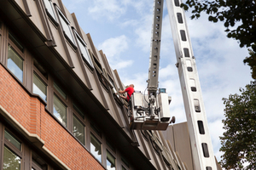
[[34, 73], [34, 76], [33, 76], [33, 93], [38, 94], [42, 99], [44, 99], [44, 101], [46, 101], [47, 86], [38, 77], [36, 73]]

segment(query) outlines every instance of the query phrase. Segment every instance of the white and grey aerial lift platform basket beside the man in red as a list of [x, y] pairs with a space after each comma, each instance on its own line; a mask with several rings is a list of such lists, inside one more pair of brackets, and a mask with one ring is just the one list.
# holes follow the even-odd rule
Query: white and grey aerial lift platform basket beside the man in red
[[129, 105], [129, 124], [137, 130], [166, 130], [175, 118], [170, 118], [169, 104], [172, 98], [165, 92], [157, 94], [157, 102], [150, 106], [147, 94], [135, 92]]

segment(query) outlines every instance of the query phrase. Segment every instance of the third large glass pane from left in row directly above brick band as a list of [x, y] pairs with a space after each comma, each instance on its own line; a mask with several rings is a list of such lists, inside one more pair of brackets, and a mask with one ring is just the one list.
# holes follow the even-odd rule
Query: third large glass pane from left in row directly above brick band
[[67, 124], [67, 106], [63, 105], [60, 99], [54, 96], [54, 115], [66, 127]]

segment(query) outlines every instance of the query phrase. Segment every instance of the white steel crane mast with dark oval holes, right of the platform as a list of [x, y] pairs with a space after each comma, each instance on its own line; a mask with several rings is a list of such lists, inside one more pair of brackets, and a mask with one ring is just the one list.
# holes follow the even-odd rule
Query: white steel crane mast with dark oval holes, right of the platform
[[217, 170], [201, 85], [181, 0], [166, 0], [195, 170]]

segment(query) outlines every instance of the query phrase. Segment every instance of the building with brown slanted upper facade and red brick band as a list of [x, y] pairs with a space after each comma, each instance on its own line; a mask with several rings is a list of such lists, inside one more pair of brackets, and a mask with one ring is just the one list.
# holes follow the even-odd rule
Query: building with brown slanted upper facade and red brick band
[[186, 123], [131, 130], [119, 89], [61, 0], [0, 1], [0, 169], [194, 169]]

